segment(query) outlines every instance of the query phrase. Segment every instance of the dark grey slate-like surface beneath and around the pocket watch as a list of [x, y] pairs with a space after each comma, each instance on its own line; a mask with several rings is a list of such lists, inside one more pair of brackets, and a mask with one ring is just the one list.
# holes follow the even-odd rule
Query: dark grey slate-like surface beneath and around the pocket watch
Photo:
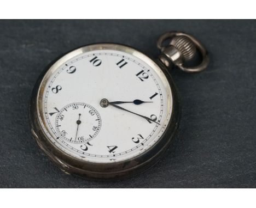
[[[117, 42], [157, 56], [167, 30], [196, 36], [210, 53], [200, 74], [172, 71], [182, 97], [176, 142], [153, 168], [119, 181], [66, 175], [32, 139], [28, 102], [60, 54]], [[256, 21], [0, 21], [0, 187], [255, 187]]]

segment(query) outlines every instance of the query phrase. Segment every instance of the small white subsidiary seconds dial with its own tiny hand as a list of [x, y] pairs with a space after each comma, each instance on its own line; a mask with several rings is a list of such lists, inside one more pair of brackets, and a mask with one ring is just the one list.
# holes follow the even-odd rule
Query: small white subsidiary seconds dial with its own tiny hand
[[100, 131], [101, 118], [94, 107], [86, 103], [71, 103], [57, 114], [55, 125], [60, 138], [71, 143], [85, 143]]

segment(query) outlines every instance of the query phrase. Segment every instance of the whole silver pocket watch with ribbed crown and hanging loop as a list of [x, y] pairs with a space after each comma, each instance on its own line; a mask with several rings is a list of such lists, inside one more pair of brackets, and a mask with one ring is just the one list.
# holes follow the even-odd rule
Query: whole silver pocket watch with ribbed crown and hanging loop
[[[181, 113], [169, 71], [199, 72], [209, 59], [205, 47], [182, 32], [161, 35], [157, 45], [158, 59], [120, 44], [86, 45], [39, 77], [29, 108], [32, 135], [65, 173], [127, 177], [164, 154]], [[202, 62], [185, 67], [196, 51]]]

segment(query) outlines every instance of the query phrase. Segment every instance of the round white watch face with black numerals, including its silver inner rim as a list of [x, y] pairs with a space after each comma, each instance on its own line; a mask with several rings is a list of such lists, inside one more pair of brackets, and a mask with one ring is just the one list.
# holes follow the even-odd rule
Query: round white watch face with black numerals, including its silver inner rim
[[40, 127], [63, 153], [92, 163], [139, 157], [163, 136], [172, 114], [164, 72], [133, 48], [96, 44], [57, 60], [37, 94]]

